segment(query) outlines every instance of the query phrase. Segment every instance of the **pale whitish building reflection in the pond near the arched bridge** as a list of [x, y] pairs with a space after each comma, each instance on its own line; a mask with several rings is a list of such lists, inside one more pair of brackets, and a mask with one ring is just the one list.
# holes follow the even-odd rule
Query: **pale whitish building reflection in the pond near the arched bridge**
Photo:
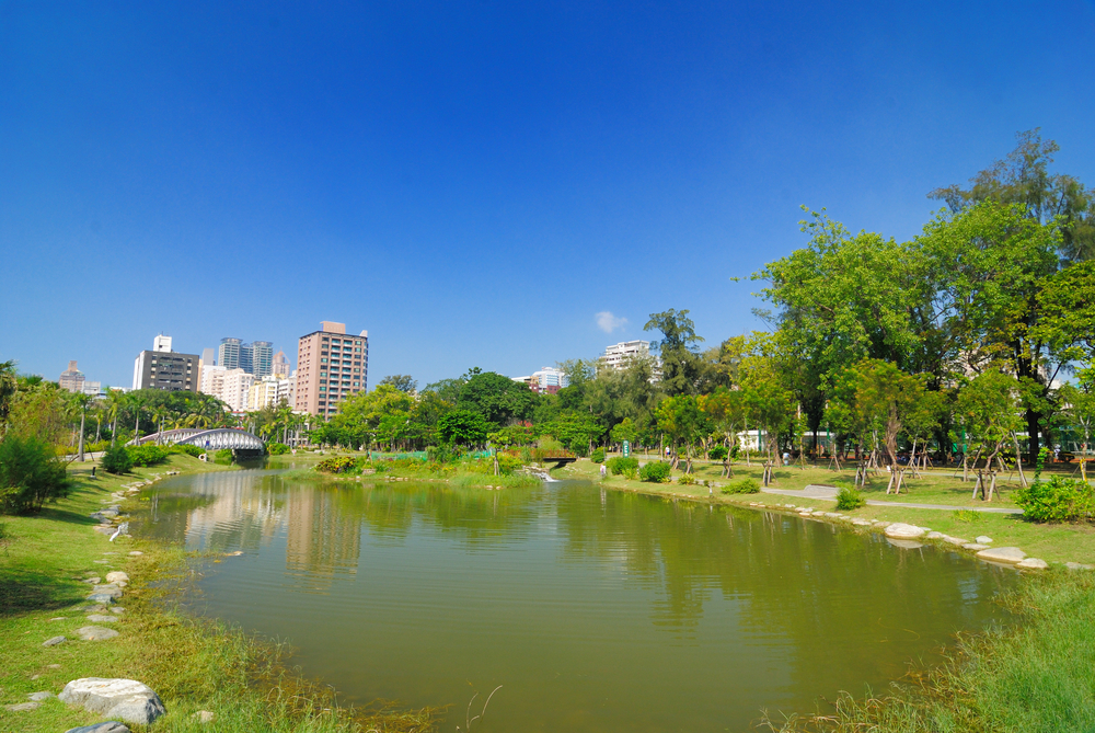
[[214, 501], [186, 513], [186, 541], [212, 550], [257, 550], [274, 537], [284, 509], [274, 491], [244, 473], [209, 473], [195, 492]]

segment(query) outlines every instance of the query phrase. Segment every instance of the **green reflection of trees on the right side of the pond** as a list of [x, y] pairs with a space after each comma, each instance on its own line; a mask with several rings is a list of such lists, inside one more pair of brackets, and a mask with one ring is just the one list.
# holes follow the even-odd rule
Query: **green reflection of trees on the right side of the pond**
[[[692, 637], [717, 591], [737, 622], [786, 640], [806, 689], [831, 685], [833, 665], [900, 675], [903, 667], [880, 660], [932, 654], [954, 631], [976, 628], [1014, 581], [955, 552], [899, 550], [879, 535], [798, 517], [626, 493], [609, 494], [602, 508], [580, 484], [557, 502], [565, 554], [657, 587], [654, 623]], [[890, 653], [879, 654], [881, 645]]]

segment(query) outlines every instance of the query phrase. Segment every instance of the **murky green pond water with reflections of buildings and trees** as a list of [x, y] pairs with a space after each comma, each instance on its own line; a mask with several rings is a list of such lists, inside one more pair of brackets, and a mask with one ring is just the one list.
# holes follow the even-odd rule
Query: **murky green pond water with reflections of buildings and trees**
[[442, 731], [745, 731], [938, 660], [1017, 580], [797, 516], [602, 491], [178, 477], [139, 531], [234, 552], [196, 607]]

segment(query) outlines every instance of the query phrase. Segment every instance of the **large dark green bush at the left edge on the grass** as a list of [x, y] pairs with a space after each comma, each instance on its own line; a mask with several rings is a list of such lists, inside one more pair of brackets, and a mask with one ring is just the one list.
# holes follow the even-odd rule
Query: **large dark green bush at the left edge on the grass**
[[38, 512], [71, 489], [65, 463], [48, 443], [13, 435], [0, 440], [0, 508], [5, 513]]

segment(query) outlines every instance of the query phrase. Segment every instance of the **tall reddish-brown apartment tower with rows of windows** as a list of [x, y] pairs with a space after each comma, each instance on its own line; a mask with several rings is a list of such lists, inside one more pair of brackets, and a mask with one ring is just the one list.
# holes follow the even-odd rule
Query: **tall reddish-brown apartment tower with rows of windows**
[[330, 416], [347, 397], [364, 392], [369, 379], [369, 332], [347, 335], [345, 323], [322, 321], [297, 343], [296, 409]]

